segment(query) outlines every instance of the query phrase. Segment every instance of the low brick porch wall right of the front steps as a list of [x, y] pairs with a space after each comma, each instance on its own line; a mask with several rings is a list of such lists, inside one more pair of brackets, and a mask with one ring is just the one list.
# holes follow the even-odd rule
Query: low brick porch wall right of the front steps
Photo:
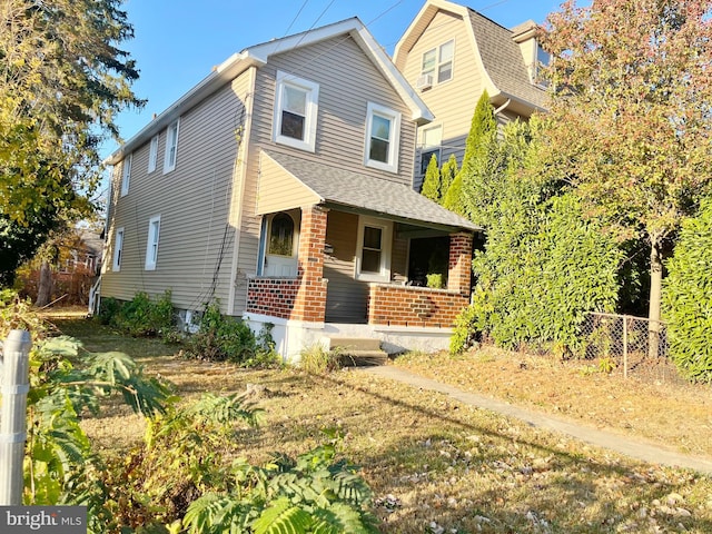
[[468, 304], [468, 294], [373, 284], [368, 295], [368, 324], [449, 328]]

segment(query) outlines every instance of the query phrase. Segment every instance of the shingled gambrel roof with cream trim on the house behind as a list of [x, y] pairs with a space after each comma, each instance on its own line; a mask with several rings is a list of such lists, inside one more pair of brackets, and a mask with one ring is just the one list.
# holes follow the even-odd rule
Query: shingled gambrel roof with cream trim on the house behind
[[531, 82], [520, 46], [515, 41], [515, 37], [532, 28], [531, 21], [508, 30], [465, 6], [446, 0], [428, 0], [396, 44], [393, 57], [398, 68], [405, 67], [408, 52], [441, 10], [458, 16], [466, 24], [472, 49], [492, 100], [502, 102], [513, 99], [530, 108], [544, 109], [546, 93]]

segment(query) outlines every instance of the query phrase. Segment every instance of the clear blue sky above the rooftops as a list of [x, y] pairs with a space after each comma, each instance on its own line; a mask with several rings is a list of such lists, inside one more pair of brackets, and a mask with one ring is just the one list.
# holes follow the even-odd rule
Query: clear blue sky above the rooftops
[[[562, 0], [461, 0], [511, 28], [544, 22]], [[425, 0], [128, 0], [135, 38], [122, 43], [140, 70], [134, 91], [148, 103], [118, 117], [129, 139], [234, 52], [287, 34], [358, 17], [392, 55]], [[102, 157], [117, 148], [103, 147]]]

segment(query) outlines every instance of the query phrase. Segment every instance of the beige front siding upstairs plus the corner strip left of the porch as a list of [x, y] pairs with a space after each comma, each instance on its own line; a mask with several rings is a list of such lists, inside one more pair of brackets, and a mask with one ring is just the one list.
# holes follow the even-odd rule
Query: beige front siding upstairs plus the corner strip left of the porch
[[[314, 152], [273, 141], [275, 87], [277, 70], [295, 75], [319, 85], [316, 150]], [[366, 58], [350, 37], [326, 40], [297, 50], [288, 50], [270, 58], [256, 71], [251, 129], [248, 134], [247, 181], [243, 189], [243, 211], [239, 231], [239, 256], [235, 274], [236, 294], [231, 313], [238, 315], [246, 306], [247, 277], [256, 274], [259, 256], [261, 217], [258, 216], [259, 161], [263, 148], [291, 154], [299, 158], [349, 169], [367, 176], [412, 185], [416, 125], [411, 111], [380, 71]], [[379, 103], [402, 113], [398, 172], [365, 167], [366, 108]], [[263, 209], [259, 210], [263, 212]], [[356, 238], [354, 226], [352, 238]], [[355, 245], [354, 245], [355, 246]], [[355, 250], [355, 249], [354, 249]], [[350, 259], [353, 261], [353, 258]], [[339, 270], [339, 278], [342, 271]], [[353, 265], [348, 273], [352, 284]], [[325, 275], [328, 278], [328, 276]], [[345, 297], [359, 300], [366, 286], [343, 280]], [[338, 287], [338, 281], [336, 283]], [[329, 284], [329, 293], [332, 285]], [[358, 294], [358, 296], [357, 296]], [[365, 300], [364, 305], [365, 306]], [[365, 317], [365, 307], [355, 315]]]

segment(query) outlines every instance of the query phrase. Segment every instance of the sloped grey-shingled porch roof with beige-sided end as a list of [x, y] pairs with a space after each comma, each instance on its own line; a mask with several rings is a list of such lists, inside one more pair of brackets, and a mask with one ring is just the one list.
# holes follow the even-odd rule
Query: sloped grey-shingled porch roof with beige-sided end
[[[293, 197], [290, 202], [286, 202], [284, 188], [260, 184], [258, 196], [263, 206], [281, 205], [281, 209], [297, 208], [304, 206], [304, 200], [309, 197], [313, 199], [312, 204], [370, 214], [419, 227], [482, 230], [469, 220], [428, 200], [404, 184], [268, 150], [263, 150], [261, 161], [264, 167], [278, 166], [296, 180], [295, 185], [298, 184], [304, 191], [309, 191], [305, 198]], [[283, 175], [283, 180], [285, 178]]]

